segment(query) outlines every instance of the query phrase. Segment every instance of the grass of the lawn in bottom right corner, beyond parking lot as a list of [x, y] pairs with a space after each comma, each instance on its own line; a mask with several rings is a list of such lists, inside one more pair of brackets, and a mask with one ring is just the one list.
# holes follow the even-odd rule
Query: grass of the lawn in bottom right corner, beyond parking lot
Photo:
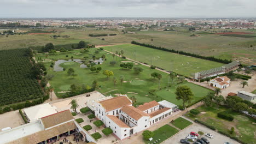
[[[241, 113], [234, 112], [226, 107], [219, 107], [219, 110], [213, 107], [198, 107], [197, 110], [200, 112], [206, 112], [205, 114], [200, 113], [197, 116], [191, 115], [191, 113], [187, 113], [186, 116], [190, 119], [199, 119], [200, 121], [206, 122], [208, 124], [212, 124], [217, 130], [225, 131], [229, 133], [231, 127], [235, 128], [235, 133], [232, 136], [238, 137], [243, 142], [247, 143], [256, 143], [255, 142], [255, 129], [256, 125], [253, 124], [256, 122], [256, 119], [251, 117], [247, 117], [246, 115], [241, 115]], [[217, 113], [220, 111], [228, 111], [235, 119], [230, 122], [225, 119], [219, 118]]]

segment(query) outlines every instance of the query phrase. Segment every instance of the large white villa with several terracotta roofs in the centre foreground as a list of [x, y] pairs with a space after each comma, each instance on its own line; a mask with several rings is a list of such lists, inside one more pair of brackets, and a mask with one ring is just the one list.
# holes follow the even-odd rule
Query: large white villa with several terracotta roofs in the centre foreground
[[121, 140], [171, 116], [172, 111], [176, 108], [177, 105], [166, 100], [159, 103], [150, 101], [133, 107], [132, 100], [126, 96], [96, 101], [94, 104], [95, 116], [106, 127], [111, 128], [113, 134]]

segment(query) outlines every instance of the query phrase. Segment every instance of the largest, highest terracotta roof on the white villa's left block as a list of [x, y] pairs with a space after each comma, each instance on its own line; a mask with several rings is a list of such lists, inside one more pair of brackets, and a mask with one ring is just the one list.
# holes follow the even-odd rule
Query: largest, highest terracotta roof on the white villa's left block
[[99, 103], [104, 107], [106, 112], [132, 104], [130, 99], [125, 96], [119, 96], [119, 97], [114, 97], [112, 99], [99, 101]]

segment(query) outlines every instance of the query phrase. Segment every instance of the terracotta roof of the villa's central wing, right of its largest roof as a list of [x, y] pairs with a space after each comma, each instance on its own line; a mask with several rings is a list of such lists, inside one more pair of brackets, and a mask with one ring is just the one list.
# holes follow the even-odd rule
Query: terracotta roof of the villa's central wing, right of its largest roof
[[133, 106], [124, 106], [121, 111], [125, 112], [127, 115], [138, 121], [139, 118], [146, 116], [148, 117], [149, 115], [139, 109], [136, 109]]

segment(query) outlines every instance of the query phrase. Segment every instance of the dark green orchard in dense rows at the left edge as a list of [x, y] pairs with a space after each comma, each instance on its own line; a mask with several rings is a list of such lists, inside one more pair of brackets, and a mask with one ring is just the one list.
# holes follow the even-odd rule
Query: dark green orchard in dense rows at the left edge
[[0, 51], [0, 106], [44, 97], [38, 81], [31, 76], [32, 57], [29, 49]]

